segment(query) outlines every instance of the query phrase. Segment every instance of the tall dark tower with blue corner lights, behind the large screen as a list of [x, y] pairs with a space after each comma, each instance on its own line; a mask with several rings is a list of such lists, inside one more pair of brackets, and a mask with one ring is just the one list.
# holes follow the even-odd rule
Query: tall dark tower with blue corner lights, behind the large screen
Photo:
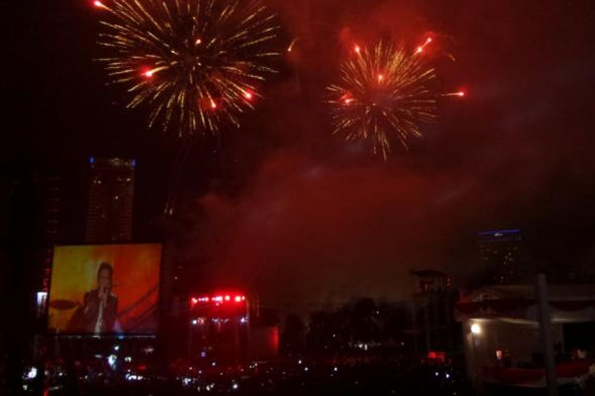
[[132, 239], [135, 165], [134, 160], [89, 159], [87, 243], [127, 242]]

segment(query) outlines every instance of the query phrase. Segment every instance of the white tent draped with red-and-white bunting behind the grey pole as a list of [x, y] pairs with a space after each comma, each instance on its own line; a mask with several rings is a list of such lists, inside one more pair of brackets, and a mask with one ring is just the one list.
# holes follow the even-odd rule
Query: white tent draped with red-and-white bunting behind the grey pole
[[[553, 343], [558, 351], [565, 347], [564, 324], [595, 322], [595, 285], [549, 286], [548, 303]], [[468, 373], [476, 384], [516, 378], [520, 382], [514, 385], [543, 386], [543, 369], [518, 369], [523, 363], [528, 366], [541, 351], [534, 286], [488, 286], [475, 290], [456, 304], [455, 318], [463, 324]], [[503, 368], [505, 363], [515, 369]], [[574, 381], [585, 370], [588, 375], [589, 368], [590, 365], [581, 365], [562, 370], [559, 382]], [[493, 378], [494, 373], [498, 378]]]

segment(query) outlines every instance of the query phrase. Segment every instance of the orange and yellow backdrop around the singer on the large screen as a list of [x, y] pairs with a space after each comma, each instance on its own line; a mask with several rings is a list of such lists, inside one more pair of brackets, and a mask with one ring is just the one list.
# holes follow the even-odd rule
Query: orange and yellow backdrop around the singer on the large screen
[[[118, 322], [124, 333], [156, 332], [161, 244], [55, 246], [49, 296], [49, 328], [64, 332], [75, 309], [55, 309], [52, 302], [83, 303], [97, 287], [102, 262], [114, 268], [112, 293], [118, 297]], [[139, 322], [139, 318], [143, 318]]]

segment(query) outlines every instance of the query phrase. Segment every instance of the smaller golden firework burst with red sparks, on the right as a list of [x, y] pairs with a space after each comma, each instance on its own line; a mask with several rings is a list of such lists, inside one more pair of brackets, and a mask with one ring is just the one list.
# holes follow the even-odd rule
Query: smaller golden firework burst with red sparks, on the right
[[420, 124], [436, 119], [439, 97], [464, 95], [433, 87], [436, 70], [419, 55], [430, 43], [413, 53], [384, 43], [372, 49], [355, 45], [340, 65], [340, 83], [327, 87], [333, 133], [348, 141], [371, 139], [384, 160], [393, 140], [408, 148], [412, 137], [421, 137]]

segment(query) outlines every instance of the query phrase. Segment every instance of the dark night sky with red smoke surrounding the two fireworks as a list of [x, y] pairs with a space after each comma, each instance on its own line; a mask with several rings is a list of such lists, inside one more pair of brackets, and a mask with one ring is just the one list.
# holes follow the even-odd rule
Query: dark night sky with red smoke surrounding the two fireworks
[[[86, 0], [10, 2], [4, 36], [5, 175], [137, 159], [137, 236], [165, 204], [179, 141], [148, 130], [106, 87]], [[18, 4], [15, 4], [18, 3]], [[299, 37], [239, 130], [201, 138], [185, 164], [177, 259], [214, 283], [267, 298], [401, 296], [411, 268], [477, 274], [478, 231], [522, 228], [528, 261], [595, 261], [593, 70], [587, 1], [271, 0]], [[12, 17], [11, 17], [12, 15]], [[386, 163], [330, 135], [322, 103], [337, 59], [359, 42], [437, 38], [440, 83], [464, 88]], [[441, 53], [452, 53], [452, 62]], [[7, 122], [8, 121], [8, 122]], [[227, 188], [209, 190], [223, 175]]]

